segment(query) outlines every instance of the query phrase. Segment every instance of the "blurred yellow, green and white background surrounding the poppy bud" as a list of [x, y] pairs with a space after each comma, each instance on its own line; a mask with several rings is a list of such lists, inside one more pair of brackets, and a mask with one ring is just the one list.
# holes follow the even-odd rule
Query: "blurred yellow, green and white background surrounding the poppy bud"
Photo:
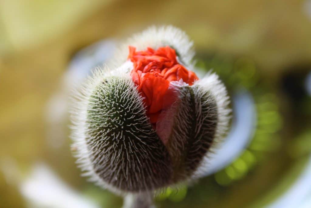
[[311, 207], [311, 0], [0, 1], [0, 207], [121, 207], [81, 177], [68, 96], [120, 38], [172, 24], [233, 108], [203, 177], [158, 207]]

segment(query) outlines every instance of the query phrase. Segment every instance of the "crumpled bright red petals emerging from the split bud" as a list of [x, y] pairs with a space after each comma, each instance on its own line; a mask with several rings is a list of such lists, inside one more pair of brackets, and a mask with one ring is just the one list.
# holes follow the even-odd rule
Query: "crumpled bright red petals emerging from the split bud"
[[146, 114], [155, 128], [161, 110], [168, 108], [176, 99], [173, 96], [167, 100], [170, 97], [167, 95], [172, 93], [169, 91], [169, 83], [182, 79], [193, 85], [198, 80], [197, 75], [178, 63], [175, 50], [169, 46], [157, 50], [148, 47], [146, 51], [136, 51], [135, 47], [129, 46], [128, 59], [134, 66], [131, 71], [132, 80], [145, 98], [143, 102]]

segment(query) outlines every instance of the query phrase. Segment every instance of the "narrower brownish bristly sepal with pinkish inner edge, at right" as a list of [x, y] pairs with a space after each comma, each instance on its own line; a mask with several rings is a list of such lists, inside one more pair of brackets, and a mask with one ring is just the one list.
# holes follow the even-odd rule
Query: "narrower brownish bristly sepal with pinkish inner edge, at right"
[[194, 85], [171, 82], [176, 102], [162, 111], [157, 133], [172, 158], [174, 183], [191, 181], [208, 168], [206, 157], [223, 138], [230, 120], [229, 98], [216, 74]]

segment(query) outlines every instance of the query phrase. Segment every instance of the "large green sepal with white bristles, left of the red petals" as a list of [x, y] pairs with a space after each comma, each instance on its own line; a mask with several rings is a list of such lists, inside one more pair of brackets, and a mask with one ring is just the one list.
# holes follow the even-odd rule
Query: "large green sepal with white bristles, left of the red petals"
[[[152, 129], [128, 73], [95, 71], [77, 94], [73, 139], [86, 176], [119, 194], [171, 183], [169, 154]], [[81, 104], [83, 103], [83, 104]]]

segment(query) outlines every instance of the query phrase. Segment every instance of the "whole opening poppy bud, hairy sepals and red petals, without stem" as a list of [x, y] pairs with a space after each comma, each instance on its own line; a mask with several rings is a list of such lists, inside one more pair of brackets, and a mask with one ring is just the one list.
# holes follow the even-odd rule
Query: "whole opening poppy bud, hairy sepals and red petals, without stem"
[[72, 139], [85, 176], [133, 196], [202, 176], [230, 109], [216, 74], [196, 76], [192, 45], [175, 27], [151, 27], [77, 89]]

